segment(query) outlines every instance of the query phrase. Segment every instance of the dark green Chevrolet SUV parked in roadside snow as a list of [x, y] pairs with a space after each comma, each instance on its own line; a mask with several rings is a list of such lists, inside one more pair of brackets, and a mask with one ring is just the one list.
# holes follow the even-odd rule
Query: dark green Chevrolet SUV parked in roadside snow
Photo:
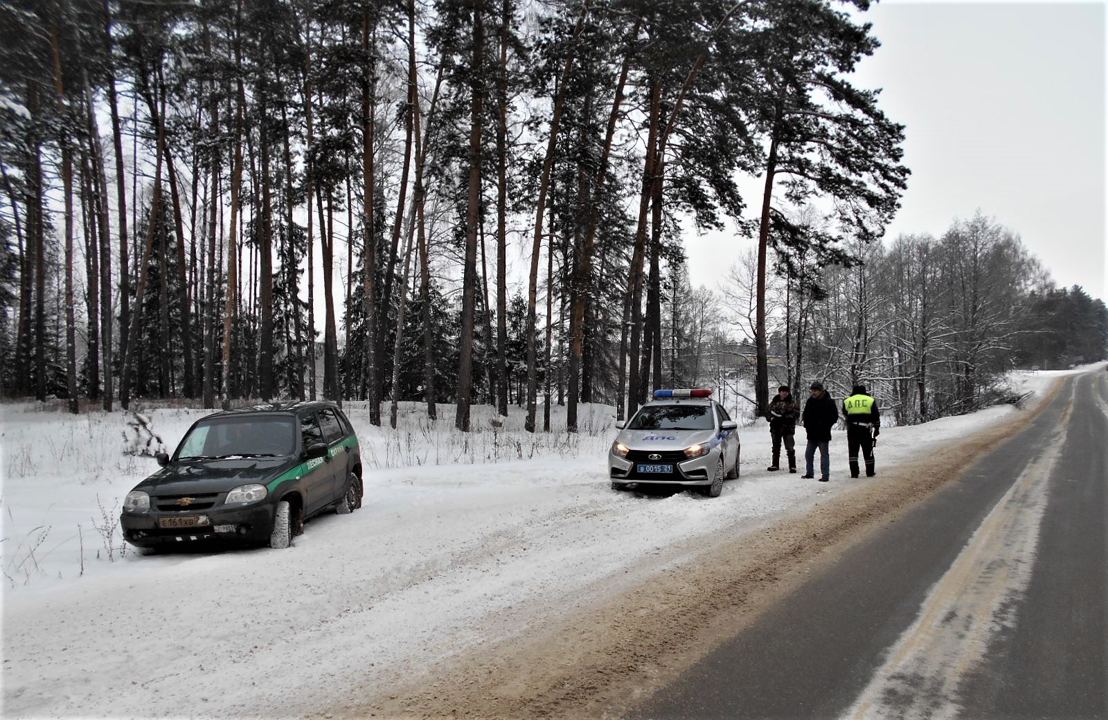
[[142, 549], [232, 539], [288, 547], [304, 521], [361, 507], [358, 438], [331, 402], [256, 405], [197, 420], [120, 523]]

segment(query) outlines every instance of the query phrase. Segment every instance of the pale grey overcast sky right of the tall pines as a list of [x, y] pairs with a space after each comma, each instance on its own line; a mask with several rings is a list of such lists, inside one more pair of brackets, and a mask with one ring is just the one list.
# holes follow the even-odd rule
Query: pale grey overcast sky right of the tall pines
[[[885, 0], [860, 17], [882, 47], [854, 82], [883, 89], [912, 169], [886, 237], [938, 236], [981, 208], [1058, 285], [1108, 298], [1105, 4]], [[752, 243], [690, 233], [686, 247], [693, 282], [715, 287]]]

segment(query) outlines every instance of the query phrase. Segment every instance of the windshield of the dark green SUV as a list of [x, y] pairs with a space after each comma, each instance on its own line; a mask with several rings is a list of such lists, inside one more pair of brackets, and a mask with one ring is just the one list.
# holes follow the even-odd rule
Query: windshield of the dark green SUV
[[236, 455], [290, 455], [296, 450], [291, 416], [216, 418], [202, 421], [185, 435], [177, 460]]

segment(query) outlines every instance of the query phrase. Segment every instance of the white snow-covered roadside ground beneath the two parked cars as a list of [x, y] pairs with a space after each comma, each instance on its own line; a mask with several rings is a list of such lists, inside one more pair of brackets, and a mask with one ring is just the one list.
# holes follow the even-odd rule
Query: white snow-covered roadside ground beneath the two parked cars
[[[1043, 391], [1059, 374], [1014, 381]], [[418, 403], [402, 410], [390, 431], [348, 403], [376, 465], [355, 514], [311, 521], [287, 551], [143, 557], [122, 549], [119, 503], [156, 463], [121, 453], [124, 416], [4, 405], [4, 717], [310, 713], [345, 701], [353, 680], [411, 680], [431, 661], [602, 600], [676, 559], [674, 548], [880, 482], [897, 462], [1017, 412], [888, 429], [874, 481], [847, 477], [837, 432], [827, 485], [767, 472], [758, 423], [740, 431], [742, 477], [710, 500], [609, 490], [611, 408], [585, 408], [575, 436], [558, 430], [557, 408], [555, 432], [535, 436], [514, 408], [499, 430], [476, 409], [468, 438], [450, 430], [450, 407], [433, 425]], [[172, 448], [204, 411], [147, 414]]]

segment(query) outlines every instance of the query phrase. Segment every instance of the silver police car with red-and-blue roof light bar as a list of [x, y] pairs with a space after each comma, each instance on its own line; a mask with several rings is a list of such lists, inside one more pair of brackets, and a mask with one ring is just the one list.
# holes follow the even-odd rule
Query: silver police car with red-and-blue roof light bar
[[613, 490], [687, 485], [719, 497], [724, 480], [739, 476], [738, 423], [711, 390], [655, 390], [608, 452]]

